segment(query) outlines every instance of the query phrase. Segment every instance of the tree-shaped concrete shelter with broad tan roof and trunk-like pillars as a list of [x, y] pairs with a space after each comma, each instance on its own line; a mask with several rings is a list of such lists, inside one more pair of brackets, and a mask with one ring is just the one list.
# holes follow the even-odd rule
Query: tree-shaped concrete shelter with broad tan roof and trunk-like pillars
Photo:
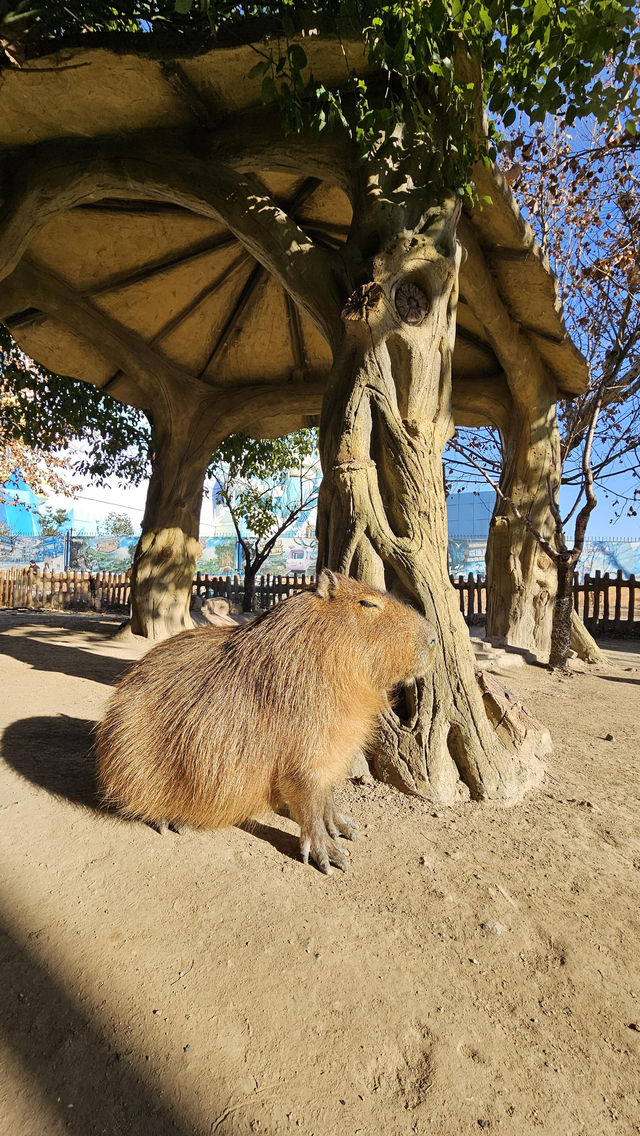
[[[360, 42], [304, 43], [327, 86], [346, 56], [368, 68]], [[394, 588], [441, 638], [433, 678], [389, 712], [379, 771], [440, 800], [517, 793], [537, 735], [517, 716], [507, 728], [498, 694], [483, 702], [475, 684], [448, 585], [441, 452], [454, 418], [497, 426], [504, 482], [545, 528], [555, 402], [584, 389], [584, 360], [496, 168], [479, 162], [480, 203], [460, 218], [408, 126], [368, 164], [334, 131], [284, 136], [248, 78], [255, 47], [168, 58], [139, 36], [1, 74], [0, 318], [49, 368], [152, 418], [142, 634], [189, 623], [216, 444], [322, 416], [323, 561]], [[492, 556], [510, 573], [499, 611], [516, 627], [534, 612], [522, 634], [542, 636], [548, 566], [510, 528], [497, 519]], [[523, 603], [531, 588], [537, 604]]]

